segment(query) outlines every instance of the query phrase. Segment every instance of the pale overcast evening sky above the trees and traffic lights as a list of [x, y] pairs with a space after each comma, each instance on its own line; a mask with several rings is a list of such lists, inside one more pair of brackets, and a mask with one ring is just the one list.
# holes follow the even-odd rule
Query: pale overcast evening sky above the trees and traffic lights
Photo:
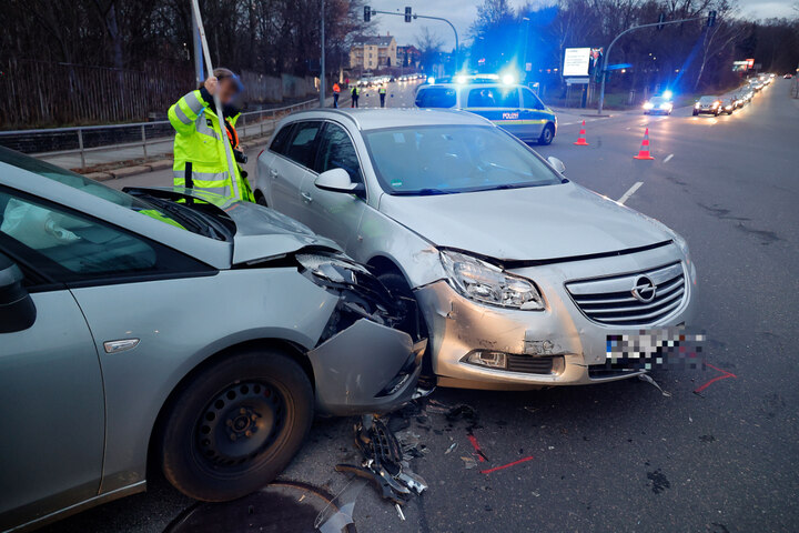
[[[468, 29], [477, 17], [477, 6], [482, 0], [366, 0], [373, 9], [381, 11], [404, 12], [405, 6], [411, 6], [415, 13], [444, 17], [449, 19], [457, 28], [461, 41], [468, 39]], [[769, 17], [791, 17], [796, 11], [791, 10], [795, 0], [738, 0], [741, 8], [741, 16], [747, 19], [763, 19]], [[515, 7], [525, 3], [525, 0], [510, 0]], [[377, 14], [377, 29], [382, 34], [386, 31], [396, 37], [397, 44], [415, 44], [416, 36], [423, 26], [438, 34], [445, 41], [446, 48], [453, 48], [455, 37], [445, 22], [435, 20], [416, 19], [406, 23], [402, 17]]]

